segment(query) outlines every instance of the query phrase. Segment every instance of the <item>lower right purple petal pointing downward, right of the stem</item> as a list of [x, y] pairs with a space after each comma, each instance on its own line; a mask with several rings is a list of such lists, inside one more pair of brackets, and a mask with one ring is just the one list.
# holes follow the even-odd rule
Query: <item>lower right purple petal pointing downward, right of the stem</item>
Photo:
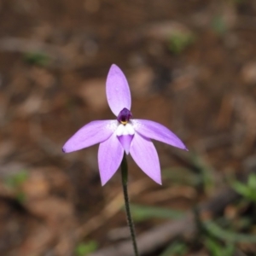
[[131, 141], [130, 153], [143, 172], [161, 184], [160, 162], [154, 144], [136, 132]]

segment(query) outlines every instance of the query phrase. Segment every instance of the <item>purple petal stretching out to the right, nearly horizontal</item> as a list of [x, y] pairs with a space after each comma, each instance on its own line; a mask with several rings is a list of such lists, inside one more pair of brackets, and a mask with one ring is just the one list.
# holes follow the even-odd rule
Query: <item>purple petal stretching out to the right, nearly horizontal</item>
[[132, 124], [135, 131], [143, 135], [143, 137], [148, 137], [177, 148], [188, 150], [183, 142], [164, 125], [143, 119], [132, 119]]

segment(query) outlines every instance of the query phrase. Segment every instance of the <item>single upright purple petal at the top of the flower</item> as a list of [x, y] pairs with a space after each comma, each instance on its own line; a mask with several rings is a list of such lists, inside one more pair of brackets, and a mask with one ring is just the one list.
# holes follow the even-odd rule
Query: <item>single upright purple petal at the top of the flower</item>
[[108, 72], [106, 83], [109, 108], [118, 116], [123, 108], [131, 110], [131, 92], [125, 74], [116, 65]]

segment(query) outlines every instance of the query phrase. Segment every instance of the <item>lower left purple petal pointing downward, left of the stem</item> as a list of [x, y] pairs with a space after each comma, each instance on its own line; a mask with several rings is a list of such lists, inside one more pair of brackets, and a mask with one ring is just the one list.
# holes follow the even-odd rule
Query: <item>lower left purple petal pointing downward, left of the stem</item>
[[124, 148], [115, 134], [100, 144], [98, 151], [99, 170], [102, 186], [105, 185], [118, 170], [124, 156]]

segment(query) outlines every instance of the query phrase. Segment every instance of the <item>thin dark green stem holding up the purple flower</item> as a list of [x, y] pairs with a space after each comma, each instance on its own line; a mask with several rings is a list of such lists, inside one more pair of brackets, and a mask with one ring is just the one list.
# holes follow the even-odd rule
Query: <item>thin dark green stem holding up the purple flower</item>
[[135, 256], [139, 256], [138, 249], [137, 249], [137, 241], [136, 241], [134, 224], [133, 224], [133, 221], [131, 218], [131, 209], [130, 209], [128, 189], [127, 189], [128, 166], [127, 166], [125, 154], [124, 154], [123, 160], [121, 162], [121, 172], [122, 172], [123, 191], [124, 191], [124, 197], [125, 197], [126, 217], [127, 217], [127, 222], [128, 222], [128, 226], [129, 226], [130, 233], [131, 233], [132, 246], [133, 246]]

